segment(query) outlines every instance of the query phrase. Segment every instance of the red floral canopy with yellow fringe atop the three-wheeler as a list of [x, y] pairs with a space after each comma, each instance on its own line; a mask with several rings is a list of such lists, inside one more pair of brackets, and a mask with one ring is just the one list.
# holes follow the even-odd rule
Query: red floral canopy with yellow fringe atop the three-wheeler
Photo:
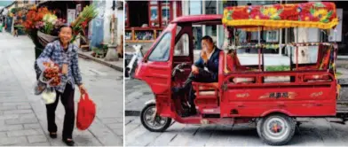
[[[312, 2], [304, 4], [245, 5], [226, 7], [222, 22], [225, 26], [248, 27], [257, 31], [285, 27], [336, 27], [336, 5]], [[260, 28], [261, 29], [261, 28]]]

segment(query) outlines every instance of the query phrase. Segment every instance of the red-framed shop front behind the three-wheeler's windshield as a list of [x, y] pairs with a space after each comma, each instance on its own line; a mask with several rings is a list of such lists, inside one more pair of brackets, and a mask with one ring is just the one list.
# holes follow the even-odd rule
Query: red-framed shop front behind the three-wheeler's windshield
[[172, 19], [181, 16], [181, 1], [127, 1], [126, 43], [152, 43]]

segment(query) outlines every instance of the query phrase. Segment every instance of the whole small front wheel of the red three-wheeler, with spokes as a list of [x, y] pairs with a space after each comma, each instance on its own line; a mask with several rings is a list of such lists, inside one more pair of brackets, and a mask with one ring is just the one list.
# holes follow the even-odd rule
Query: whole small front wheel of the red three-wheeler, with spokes
[[156, 114], [156, 105], [147, 104], [140, 114], [141, 124], [151, 132], [163, 132], [170, 127], [171, 119]]

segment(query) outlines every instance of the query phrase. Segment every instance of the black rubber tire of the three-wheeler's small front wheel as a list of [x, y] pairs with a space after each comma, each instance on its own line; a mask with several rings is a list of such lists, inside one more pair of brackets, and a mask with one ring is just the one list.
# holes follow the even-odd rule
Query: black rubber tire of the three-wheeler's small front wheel
[[146, 104], [146, 106], [143, 108], [143, 110], [141, 111], [140, 113], [140, 121], [141, 121], [141, 124], [149, 131], [151, 132], [163, 132], [165, 131], [167, 128], [170, 127], [170, 124], [171, 124], [171, 118], [163, 118], [161, 116], [156, 116], [156, 118], [160, 117], [161, 119], [164, 119], [166, 120], [165, 123], [162, 125], [162, 127], [160, 128], [152, 128], [151, 126], [149, 126], [147, 123], [146, 123], [146, 120], [145, 120], [145, 115], [146, 115], [146, 111], [148, 111], [149, 109], [152, 109], [153, 107], [155, 108], [155, 104]]

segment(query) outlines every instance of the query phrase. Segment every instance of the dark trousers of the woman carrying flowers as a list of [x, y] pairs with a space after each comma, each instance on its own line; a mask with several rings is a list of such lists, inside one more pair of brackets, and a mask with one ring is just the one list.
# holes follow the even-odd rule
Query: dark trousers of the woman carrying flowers
[[59, 97], [61, 99], [61, 104], [64, 105], [65, 116], [64, 116], [64, 126], [63, 126], [63, 139], [72, 138], [73, 130], [75, 125], [75, 109], [74, 109], [74, 94], [75, 90], [71, 84], [67, 84], [64, 93], [56, 92], [56, 101], [53, 104], [46, 104], [47, 110], [47, 122], [48, 131], [57, 132], [57, 125], [55, 122], [55, 112], [57, 104], [59, 102]]

